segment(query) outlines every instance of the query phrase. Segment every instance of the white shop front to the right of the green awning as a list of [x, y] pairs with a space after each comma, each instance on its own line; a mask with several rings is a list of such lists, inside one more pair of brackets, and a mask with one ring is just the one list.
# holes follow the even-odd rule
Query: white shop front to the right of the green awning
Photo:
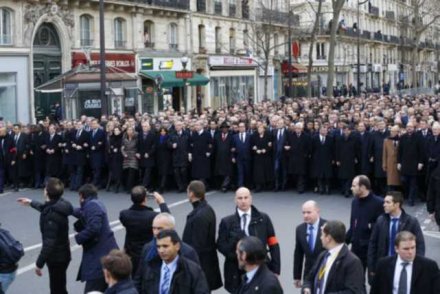
[[258, 65], [253, 59], [210, 56], [208, 66], [211, 107], [225, 107], [245, 99], [256, 101]]

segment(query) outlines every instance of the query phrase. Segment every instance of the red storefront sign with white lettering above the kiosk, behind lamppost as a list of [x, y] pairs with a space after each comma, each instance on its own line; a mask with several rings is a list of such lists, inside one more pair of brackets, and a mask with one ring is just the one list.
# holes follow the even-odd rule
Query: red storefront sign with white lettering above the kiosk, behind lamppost
[[[90, 54], [90, 65], [99, 65], [99, 53]], [[87, 58], [83, 52], [72, 53], [72, 67], [79, 64], [86, 64]], [[105, 65], [108, 67], [115, 67], [125, 72], [136, 72], [136, 64], [134, 54], [126, 53], [106, 53]]]

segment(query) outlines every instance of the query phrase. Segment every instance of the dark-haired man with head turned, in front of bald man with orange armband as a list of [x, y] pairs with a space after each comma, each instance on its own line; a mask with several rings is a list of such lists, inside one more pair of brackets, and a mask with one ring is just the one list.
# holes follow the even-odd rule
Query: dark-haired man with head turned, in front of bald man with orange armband
[[236, 293], [283, 293], [277, 276], [266, 266], [266, 248], [259, 238], [242, 238], [237, 243], [236, 254], [239, 267], [245, 271]]

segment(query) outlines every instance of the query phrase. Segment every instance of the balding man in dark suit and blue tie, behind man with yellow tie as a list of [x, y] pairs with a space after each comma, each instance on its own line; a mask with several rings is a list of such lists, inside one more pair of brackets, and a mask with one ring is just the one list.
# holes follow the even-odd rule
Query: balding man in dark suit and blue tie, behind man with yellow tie
[[295, 232], [293, 280], [296, 288], [301, 288], [302, 277], [308, 275], [316, 258], [324, 250], [321, 243], [321, 227], [326, 220], [320, 217], [318, 204], [313, 200], [305, 202], [302, 214], [304, 223], [298, 225]]

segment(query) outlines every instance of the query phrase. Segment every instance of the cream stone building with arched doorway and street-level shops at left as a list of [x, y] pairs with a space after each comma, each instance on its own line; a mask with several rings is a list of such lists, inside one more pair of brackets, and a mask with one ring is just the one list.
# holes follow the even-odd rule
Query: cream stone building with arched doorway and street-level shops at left
[[[104, 23], [106, 103], [97, 66], [99, 1], [3, 0], [0, 116], [31, 122], [55, 103], [76, 118], [190, 109], [197, 98], [218, 107], [283, 95], [284, 0], [105, 1]], [[176, 78], [184, 70], [194, 75]]]

